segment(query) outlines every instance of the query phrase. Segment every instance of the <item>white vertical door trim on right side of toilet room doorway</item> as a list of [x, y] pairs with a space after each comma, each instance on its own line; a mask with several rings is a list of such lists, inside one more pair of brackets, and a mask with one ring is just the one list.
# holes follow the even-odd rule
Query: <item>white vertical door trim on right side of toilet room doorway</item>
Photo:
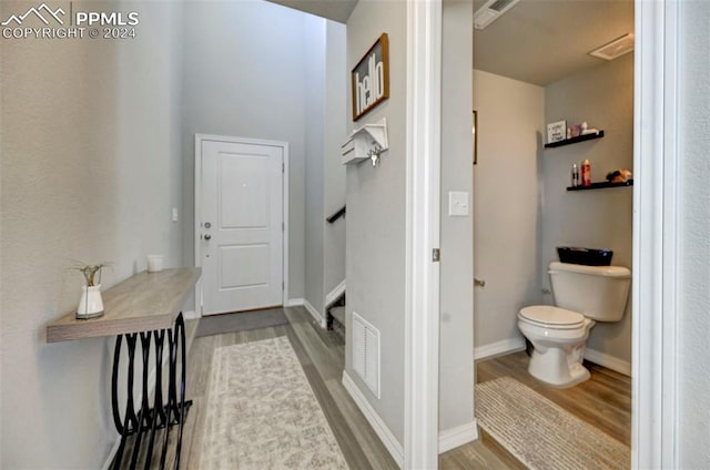
[[678, 468], [678, 10], [636, 0], [631, 468]]

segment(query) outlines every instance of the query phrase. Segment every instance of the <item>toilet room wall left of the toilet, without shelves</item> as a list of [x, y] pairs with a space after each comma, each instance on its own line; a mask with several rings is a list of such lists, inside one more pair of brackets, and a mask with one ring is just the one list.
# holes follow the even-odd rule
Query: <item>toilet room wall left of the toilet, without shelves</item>
[[[520, 308], [542, 299], [541, 155], [545, 90], [474, 70], [478, 164], [474, 166], [476, 348], [521, 344]], [[485, 350], [485, 349], [484, 349]]]

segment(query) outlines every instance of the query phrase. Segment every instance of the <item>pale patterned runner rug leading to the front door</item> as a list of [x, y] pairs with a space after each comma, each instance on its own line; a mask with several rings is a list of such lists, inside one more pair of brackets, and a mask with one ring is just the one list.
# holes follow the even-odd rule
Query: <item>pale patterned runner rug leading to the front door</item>
[[217, 348], [201, 469], [347, 469], [285, 336]]

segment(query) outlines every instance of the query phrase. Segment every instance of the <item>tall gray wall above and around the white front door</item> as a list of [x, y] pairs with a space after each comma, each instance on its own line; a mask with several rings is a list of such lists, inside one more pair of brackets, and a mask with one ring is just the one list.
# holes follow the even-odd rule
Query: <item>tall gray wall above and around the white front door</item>
[[194, 134], [286, 141], [291, 298], [305, 293], [303, 18], [262, 1], [186, 2], [182, 41], [184, 263], [194, 263]]

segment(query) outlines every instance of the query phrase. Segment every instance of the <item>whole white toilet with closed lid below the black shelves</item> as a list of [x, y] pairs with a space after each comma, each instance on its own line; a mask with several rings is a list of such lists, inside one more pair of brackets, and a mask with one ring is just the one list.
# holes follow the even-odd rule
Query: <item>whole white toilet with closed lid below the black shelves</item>
[[619, 321], [629, 294], [631, 272], [620, 266], [550, 263], [555, 303], [525, 307], [518, 328], [532, 344], [528, 371], [559, 388], [589, 378], [581, 361], [596, 321]]

